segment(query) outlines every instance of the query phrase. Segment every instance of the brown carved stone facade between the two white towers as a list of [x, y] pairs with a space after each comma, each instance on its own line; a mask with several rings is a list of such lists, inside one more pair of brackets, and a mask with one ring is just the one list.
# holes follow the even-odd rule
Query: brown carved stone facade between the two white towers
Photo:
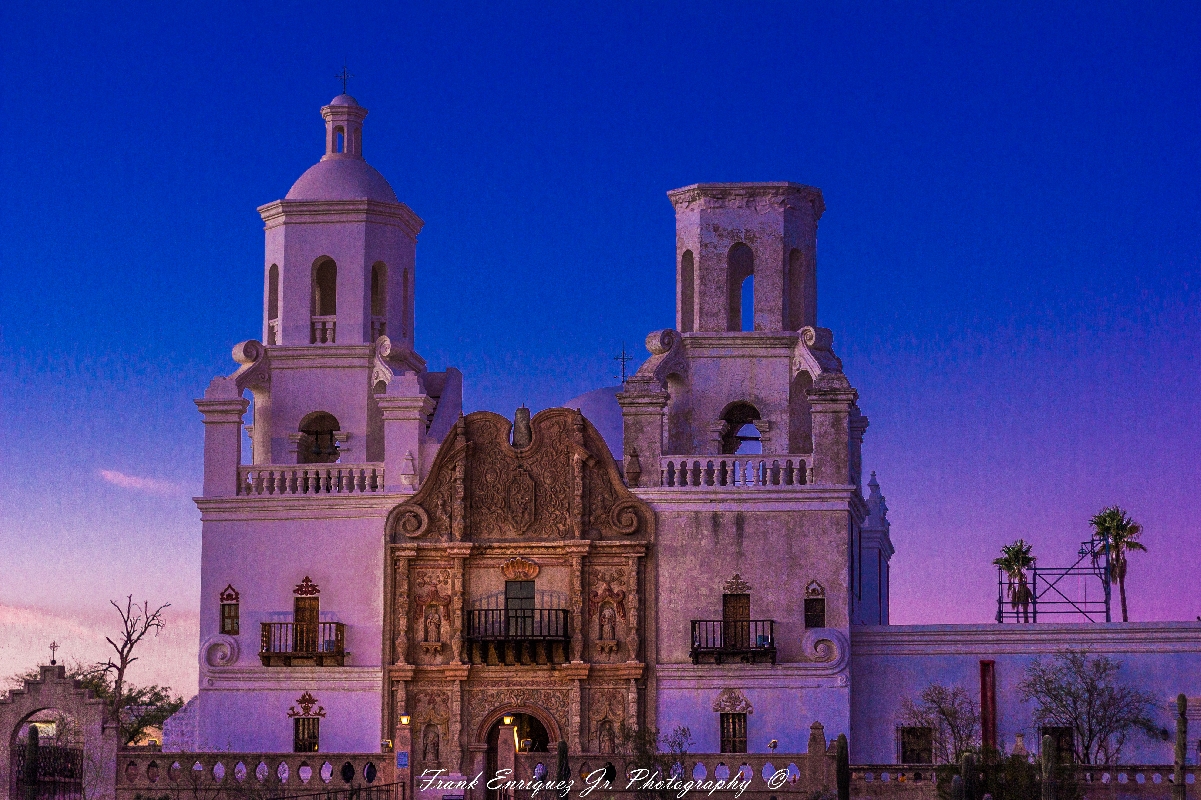
[[506, 714], [572, 752], [611, 752], [641, 724], [655, 513], [580, 412], [518, 423], [460, 419], [388, 518], [389, 718], [411, 716], [420, 769], [480, 769]]

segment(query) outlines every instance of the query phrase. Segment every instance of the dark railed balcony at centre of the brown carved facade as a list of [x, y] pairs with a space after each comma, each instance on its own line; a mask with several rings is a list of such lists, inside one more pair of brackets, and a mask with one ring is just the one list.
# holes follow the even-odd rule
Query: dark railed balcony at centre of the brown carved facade
[[570, 613], [563, 608], [471, 609], [464, 613], [464, 641], [472, 664], [562, 664], [570, 641]]

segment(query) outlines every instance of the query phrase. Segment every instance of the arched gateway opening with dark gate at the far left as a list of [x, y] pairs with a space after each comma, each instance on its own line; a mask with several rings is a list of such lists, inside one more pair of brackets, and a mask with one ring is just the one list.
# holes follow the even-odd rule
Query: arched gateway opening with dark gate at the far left
[[83, 800], [83, 729], [61, 709], [42, 709], [14, 732], [8, 756], [8, 796]]

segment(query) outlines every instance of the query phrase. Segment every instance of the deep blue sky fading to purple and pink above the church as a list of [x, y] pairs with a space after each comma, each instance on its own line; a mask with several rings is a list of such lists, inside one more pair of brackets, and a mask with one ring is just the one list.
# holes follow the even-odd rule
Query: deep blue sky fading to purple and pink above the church
[[10, 4], [0, 603], [196, 607], [191, 399], [259, 330], [255, 208], [321, 155], [345, 62], [426, 222], [418, 350], [471, 408], [644, 356], [674, 320], [664, 192], [807, 183], [894, 619], [988, 619], [1000, 543], [1062, 561], [1112, 502], [1152, 549], [1135, 619], [1193, 619], [1199, 42], [1183, 2]]

